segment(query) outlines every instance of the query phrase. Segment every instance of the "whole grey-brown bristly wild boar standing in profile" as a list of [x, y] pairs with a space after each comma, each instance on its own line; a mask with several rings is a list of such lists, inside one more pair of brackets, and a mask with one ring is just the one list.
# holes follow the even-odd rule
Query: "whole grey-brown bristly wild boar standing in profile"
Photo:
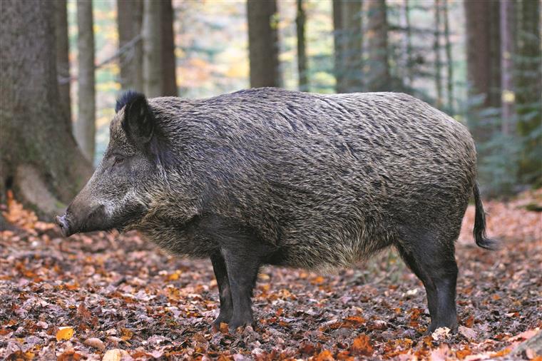
[[234, 326], [252, 320], [250, 296], [232, 285], [242, 273], [250, 288], [265, 263], [351, 267], [394, 245], [426, 287], [430, 330], [457, 326], [454, 241], [473, 193], [476, 243], [495, 245], [461, 123], [403, 93], [277, 88], [128, 93], [116, 111], [102, 164], [73, 203], [101, 218], [73, 232], [137, 229], [170, 253], [210, 257], [218, 320]]

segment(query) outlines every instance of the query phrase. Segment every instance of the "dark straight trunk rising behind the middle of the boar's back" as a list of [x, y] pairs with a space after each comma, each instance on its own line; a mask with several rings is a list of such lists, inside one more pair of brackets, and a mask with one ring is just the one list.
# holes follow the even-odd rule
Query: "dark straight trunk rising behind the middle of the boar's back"
[[280, 86], [277, 2], [247, 0], [250, 86]]

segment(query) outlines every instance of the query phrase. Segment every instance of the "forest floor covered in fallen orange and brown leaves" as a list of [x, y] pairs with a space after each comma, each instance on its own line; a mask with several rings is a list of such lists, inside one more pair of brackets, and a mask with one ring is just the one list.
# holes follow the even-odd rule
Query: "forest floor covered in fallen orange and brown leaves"
[[502, 240], [494, 252], [476, 247], [469, 207], [456, 247], [461, 327], [424, 336], [425, 290], [393, 251], [335, 275], [263, 269], [257, 325], [230, 335], [210, 328], [219, 304], [208, 260], [166, 255], [136, 233], [64, 239], [11, 201], [4, 214], [20, 228], [0, 233], [0, 359], [542, 360], [532, 203], [540, 190], [486, 202], [489, 235]]

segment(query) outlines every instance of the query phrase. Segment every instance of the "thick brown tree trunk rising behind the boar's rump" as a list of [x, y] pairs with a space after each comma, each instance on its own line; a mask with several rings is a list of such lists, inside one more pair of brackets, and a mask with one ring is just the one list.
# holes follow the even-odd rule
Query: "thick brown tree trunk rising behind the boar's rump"
[[[481, 108], [500, 108], [500, 69], [495, 68], [500, 59], [500, 36], [494, 34], [495, 7], [498, 1], [464, 1], [466, 16], [467, 78], [471, 98], [481, 97], [479, 104], [469, 109], [469, 128], [476, 142], [489, 140], [495, 127], [483, 125], [479, 119]], [[497, 22], [498, 24], [498, 22]], [[497, 54], [495, 50], [497, 50]], [[498, 61], [500, 63], [500, 61]], [[498, 83], [496, 78], [498, 77]], [[498, 91], [498, 98], [494, 96]]]

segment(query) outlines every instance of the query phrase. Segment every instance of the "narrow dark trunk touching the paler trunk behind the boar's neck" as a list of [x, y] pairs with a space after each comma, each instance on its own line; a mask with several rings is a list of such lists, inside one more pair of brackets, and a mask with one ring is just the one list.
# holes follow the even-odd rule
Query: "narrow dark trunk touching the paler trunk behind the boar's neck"
[[171, 0], [160, 1], [162, 9], [162, 95], [177, 96], [175, 66], [174, 12]]

